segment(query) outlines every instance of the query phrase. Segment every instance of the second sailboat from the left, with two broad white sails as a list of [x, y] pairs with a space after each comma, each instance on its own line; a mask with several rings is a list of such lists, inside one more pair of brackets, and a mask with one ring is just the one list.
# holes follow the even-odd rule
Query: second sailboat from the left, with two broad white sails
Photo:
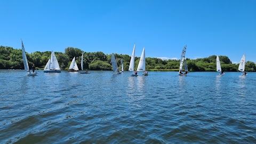
[[44, 73], [60, 73], [60, 66], [58, 60], [52, 51], [51, 58], [48, 60], [45, 68]]

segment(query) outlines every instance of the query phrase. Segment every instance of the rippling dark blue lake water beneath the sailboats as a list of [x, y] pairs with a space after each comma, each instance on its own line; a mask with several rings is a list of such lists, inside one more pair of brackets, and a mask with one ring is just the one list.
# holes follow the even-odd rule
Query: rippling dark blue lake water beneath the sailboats
[[256, 143], [256, 73], [0, 70], [0, 143]]

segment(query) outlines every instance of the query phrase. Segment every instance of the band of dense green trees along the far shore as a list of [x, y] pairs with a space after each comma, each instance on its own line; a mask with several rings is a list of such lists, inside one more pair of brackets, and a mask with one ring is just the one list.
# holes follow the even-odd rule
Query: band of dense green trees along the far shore
[[[51, 57], [51, 52], [33, 52], [26, 53], [29, 67], [33, 64], [37, 69], [44, 69], [47, 61]], [[78, 68], [81, 69], [82, 50], [74, 47], [67, 47], [65, 52], [55, 52], [60, 68], [67, 70], [71, 60], [76, 57]], [[216, 71], [216, 55], [208, 58], [188, 59], [189, 71]], [[121, 58], [123, 58], [124, 70], [129, 69], [130, 55], [115, 54], [117, 65], [121, 67]], [[238, 64], [233, 64], [227, 56], [219, 56], [221, 69], [223, 71], [238, 71]], [[138, 67], [140, 58], [135, 57], [135, 66]], [[162, 60], [159, 58], [146, 58], [146, 69], [157, 71], [178, 71], [180, 60]], [[24, 69], [21, 49], [13, 49], [9, 46], [0, 46], [0, 69]], [[90, 70], [111, 70], [111, 54], [103, 52], [84, 52], [84, 69]], [[120, 68], [121, 69], [121, 68]], [[256, 71], [255, 63], [246, 61], [246, 71]]]

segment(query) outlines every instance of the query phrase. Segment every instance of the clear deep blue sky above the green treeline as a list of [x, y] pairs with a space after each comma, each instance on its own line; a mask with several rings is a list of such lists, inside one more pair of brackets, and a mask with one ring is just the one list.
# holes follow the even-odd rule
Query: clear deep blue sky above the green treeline
[[0, 45], [27, 52], [86, 52], [140, 57], [227, 55], [256, 62], [256, 1], [0, 1]]

